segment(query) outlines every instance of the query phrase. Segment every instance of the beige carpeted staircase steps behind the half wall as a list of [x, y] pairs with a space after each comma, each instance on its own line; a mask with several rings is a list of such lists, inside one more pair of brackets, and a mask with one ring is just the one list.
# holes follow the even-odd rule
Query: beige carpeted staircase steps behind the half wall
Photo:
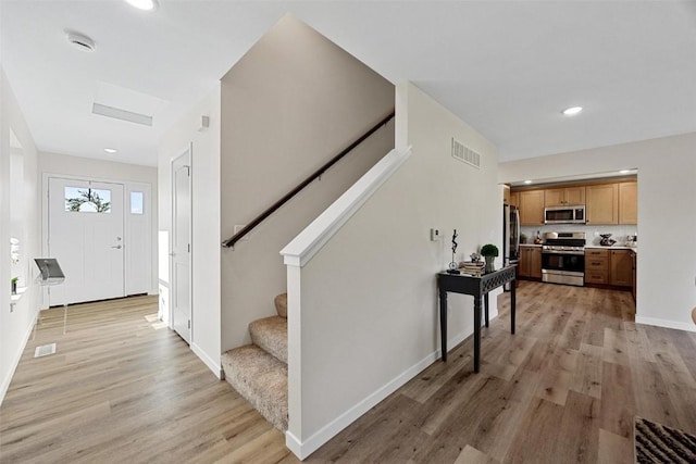
[[225, 379], [281, 431], [287, 430], [287, 293], [275, 297], [277, 316], [249, 324], [251, 344], [222, 355]]

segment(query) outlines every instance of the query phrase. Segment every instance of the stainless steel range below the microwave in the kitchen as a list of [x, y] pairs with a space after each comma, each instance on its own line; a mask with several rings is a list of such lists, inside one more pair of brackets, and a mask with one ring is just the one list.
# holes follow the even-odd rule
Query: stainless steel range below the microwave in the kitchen
[[585, 285], [585, 233], [544, 234], [542, 280]]

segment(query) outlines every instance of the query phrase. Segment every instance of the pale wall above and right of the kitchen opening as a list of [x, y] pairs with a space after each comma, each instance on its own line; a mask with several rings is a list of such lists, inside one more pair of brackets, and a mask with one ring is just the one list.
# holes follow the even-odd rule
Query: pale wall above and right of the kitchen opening
[[500, 181], [638, 170], [636, 322], [696, 330], [696, 134], [511, 161]]

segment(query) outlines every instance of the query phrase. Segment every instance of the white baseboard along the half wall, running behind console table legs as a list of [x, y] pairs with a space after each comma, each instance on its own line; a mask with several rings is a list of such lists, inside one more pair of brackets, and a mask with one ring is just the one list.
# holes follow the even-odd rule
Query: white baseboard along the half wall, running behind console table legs
[[[489, 321], [498, 316], [498, 311], [493, 310], [489, 313]], [[461, 331], [453, 337], [449, 337], [447, 341], [448, 349], [456, 347], [464, 341], [464, 339], [473, 334], [473, 328]], [[285, 446], [295, 454], [298, 459], [304, 460], [319, 448], [321, 448], [328, 440], [338, 435], [344, 428], [356, 422], [360, 416], [374, 407], [377, 403], [386, 399], [389, 394], [394, 393], [400, 387], [406, 385], [413, 377], [419, 375], [423, 369], [433, 364], [440, 358], [440, 350], [437, 349], [431, 354], [423, 358], [418, 363], [413, 364], [408, 369], [396, 376], [386, 385], [380, 387], [372, 394], [358, 404], [336, 417], [331, 423], [326, 424], [314, 435], [309, 437], [306, 441], [300, 441], [290, 430], [285, 432]]]

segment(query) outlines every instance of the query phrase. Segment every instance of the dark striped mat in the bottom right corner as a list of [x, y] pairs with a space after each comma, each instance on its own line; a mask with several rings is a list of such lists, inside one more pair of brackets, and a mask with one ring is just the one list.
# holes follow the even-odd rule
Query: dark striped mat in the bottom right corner
[[696, 436], [636, 416], [635, 462], [696, 463]]

